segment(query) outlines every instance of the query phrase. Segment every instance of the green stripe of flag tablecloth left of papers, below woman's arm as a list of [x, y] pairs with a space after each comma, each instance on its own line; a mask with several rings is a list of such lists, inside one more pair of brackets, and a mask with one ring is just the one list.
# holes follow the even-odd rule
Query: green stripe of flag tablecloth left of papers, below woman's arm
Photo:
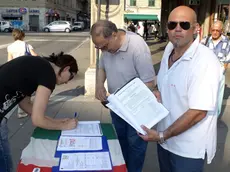
[[32, 137], [36, 139], [49, 139], [49, 140], [58, 140], [58, 137], [61, 135], [60, 130], [46, 130], [42, 128], [35, 128]]

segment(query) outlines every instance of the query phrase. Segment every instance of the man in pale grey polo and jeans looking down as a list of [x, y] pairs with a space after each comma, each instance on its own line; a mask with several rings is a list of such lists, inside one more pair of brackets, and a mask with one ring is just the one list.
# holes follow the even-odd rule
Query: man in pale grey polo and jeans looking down
[[[102, 51], [96, 82], [97, 99], [106, 100], [106, 79], [110, 94], [134, 77], [140, 78], [150, 89], [154, 87], [155, 72], [151, 53], [142, 37], [117, 29], [113, 22], [107, 20], [93, 24], [90, 34], [95, 47]], [[141, 172], [147, 142], [116, 113], [111, 111], [110, 114], [128, 171]]]

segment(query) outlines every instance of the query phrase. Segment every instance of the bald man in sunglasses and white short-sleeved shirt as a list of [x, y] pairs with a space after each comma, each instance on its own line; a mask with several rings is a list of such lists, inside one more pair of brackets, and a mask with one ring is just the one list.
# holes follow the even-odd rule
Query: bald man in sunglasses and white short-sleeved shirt
[[205, 155], [211, 163], [216, 152], [221, 65], [198, 38], [194, 40], [197, 26], [196, 14], [187, 6], [170, 13], [170, 42], [157, 76], [159, 92], [155, 94], [169, 115], [158, 123], [157, 131], [142, 126], [147, 135], [140, 137], [159, 143], [162, 172], [202, 172]]

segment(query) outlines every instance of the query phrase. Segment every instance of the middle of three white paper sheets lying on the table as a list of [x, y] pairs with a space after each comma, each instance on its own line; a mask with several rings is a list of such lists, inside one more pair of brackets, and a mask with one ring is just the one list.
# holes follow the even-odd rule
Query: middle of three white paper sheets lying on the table
[[71, 150], [102, 150], [102, 138], [61, 136], [58, 141], [57, 151]]

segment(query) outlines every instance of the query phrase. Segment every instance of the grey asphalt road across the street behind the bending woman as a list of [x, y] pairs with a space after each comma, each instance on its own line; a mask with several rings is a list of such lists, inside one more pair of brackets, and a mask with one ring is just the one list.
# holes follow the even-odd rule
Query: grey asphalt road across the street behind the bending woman
[[[40, 56], [64, 51], [71, 52], [83, 40], [89, 37], [89, 32], [72, 33], [26, 33], [25, 41], [32, 45]], [[7, 61], [7, 46], [14, 42], [11, 33], [0, 33], [0, 65]]]

